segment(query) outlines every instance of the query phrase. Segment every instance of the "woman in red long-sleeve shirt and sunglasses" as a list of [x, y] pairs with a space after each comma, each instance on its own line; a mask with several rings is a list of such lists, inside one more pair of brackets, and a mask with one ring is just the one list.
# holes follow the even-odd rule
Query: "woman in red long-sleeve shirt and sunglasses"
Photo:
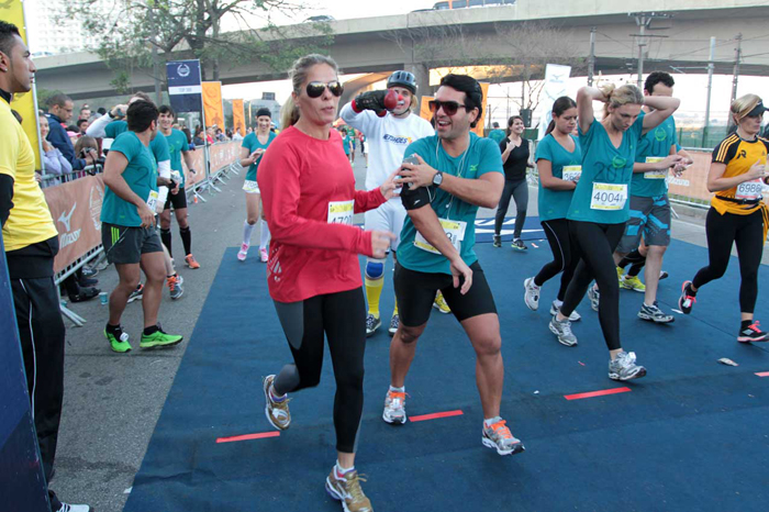
[[353, 225], [353, 214], [384, 203], [395, 186], [391, 176], [379, 189], [355, 190], [342, 137], [332, 130], [343, 91], [336, 63], [308, 55], [294, 63], [290, 76], [293, 92], [283, 105], [283, 131], [265, 153], [257, 180], [272, 235], [269, 292], [294, 364], [265, 379], [265, 413], [272, 426], [288, 428], [287, 393], [317, 386], [325, 333], [336, 379], [338, 452], [326, 490], [345, 501], [345, 510], [371, 512], [354, 464], [366, 346], [357, 255], [383, 258], [394, 235], [363, 231]]

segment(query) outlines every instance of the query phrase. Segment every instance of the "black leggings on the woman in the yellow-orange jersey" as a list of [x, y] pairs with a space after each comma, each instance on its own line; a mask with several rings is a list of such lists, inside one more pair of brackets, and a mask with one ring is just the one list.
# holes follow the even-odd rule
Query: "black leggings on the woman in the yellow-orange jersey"
[[714, 208], [705, 221], [709, 264], [694, 276], [692, 283], [700, 288], [726, 271], [732, 245], [737, 244], [739, 255], [739, 311], [753, 313], [758, 298], [758, 267], [764, 254], [764, 219], [761, 210], [749, 215], [718, 213]]

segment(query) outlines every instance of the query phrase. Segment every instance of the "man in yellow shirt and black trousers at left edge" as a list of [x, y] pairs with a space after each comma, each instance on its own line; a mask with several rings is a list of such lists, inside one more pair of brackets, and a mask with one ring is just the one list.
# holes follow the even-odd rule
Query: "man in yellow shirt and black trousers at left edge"
[[[58, 233], [35, 180], [35, 156], [11, 112], [13, 93], [29, 92], [35, 65], [11, 23], [0, 21], [0, 223], [19, 324], [26, 383], [46, 481], [56, 456], [64, 397], [64, 321], [54, 285]], [[62, 503], [48, 490], [53, 512], [89, 512]]]

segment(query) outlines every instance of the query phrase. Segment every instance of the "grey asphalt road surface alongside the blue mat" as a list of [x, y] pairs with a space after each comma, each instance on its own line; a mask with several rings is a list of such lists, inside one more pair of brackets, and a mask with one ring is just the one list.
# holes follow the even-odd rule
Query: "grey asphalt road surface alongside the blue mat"
[[[360, 187], [366, 167], [363, 158], [354, 166]], [[207, 203], [190, 204], [192, 252], [201, 264], [198, 270], [182, 261], [181, 240], [174, 224], [172, 246], [177, 248], [177, 269], [185, 277], [185, 294], [171, 301], [164, 292], [160, 321], [164, 330], [179, 333], [185, 342], [177, 347], [142, 352], [142, 302], [126, 308], [123, 326], [131, 335], [134, 350], [115, 354], [102, 334], [107, 307], [99, 300], [71, 304], [88, 320], [82, 327], [67, 323], [64, 414], [56, 457], [56, 475], [51, 487], [70, 503], [88, 503], [99, 512], [120, 512], [127, 499], [134, 475], [140, 468], [160, 410], [170, 389], [187, 343], [200, 315], [211, 282], [226, 247], [238, 246], [245, 219], [245, 172], [232, 175], [231, 181], [214, 196], [205, 193]], [[536, 190], [531, 189], [528, 212], [536, 215]], [[511, 203], [511, 215], [514, 207]], [[679, 212], [680, 213], [680, 212]], [[493, 216], [482, 209], [479, 218]], [[356, 218], [363, 222], [363, 215]], [[704, 220], [696, 216], [675, 222], [673, 235], [705, 245]], [[253, 243], [258, 245], [258, 230]], [[257, 257], [252, 249], [249, 257]], [[769, 251], [764, 263], [769, 263]], [[704, 264], [698, 263], [698, 266]], [[118, 280], [113, 267], [98, 276], [99, 287], [110, 291]], [[271, 308], [268, 297], [264, 307]]]

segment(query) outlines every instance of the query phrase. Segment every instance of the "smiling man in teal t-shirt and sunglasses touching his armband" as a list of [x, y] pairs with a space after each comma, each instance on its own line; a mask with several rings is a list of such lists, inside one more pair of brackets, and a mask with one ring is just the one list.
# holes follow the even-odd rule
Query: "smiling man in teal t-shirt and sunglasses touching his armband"
[[382, 418], [406, 421], [405, 376], [441, 290], [476, 350], [482, 443], [500, 455], [516, 454], [523, 444], [500, 416], [504, 366], [499, 316], [473, 251], [478, 208], [493, 208], [500, 200], [502, 156], [497, 143], [470, 132], [483, 109], [473, 78], [445, 76], [430, 108], [437, 133], [406, 147], [397, 181], [403, 185], [408, 216], [395, 264], [400, 326], [390, 345], [391, 380]]

